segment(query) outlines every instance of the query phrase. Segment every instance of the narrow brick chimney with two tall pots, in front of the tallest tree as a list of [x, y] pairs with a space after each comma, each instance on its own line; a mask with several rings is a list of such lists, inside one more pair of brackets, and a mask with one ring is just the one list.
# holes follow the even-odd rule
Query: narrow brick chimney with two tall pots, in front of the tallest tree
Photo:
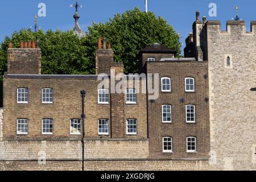
[[[110, 45], [110, 44], [109, 44]], [[98, 38], [98, 49], [96, 51], [96, 75], [106, 73], [110, 75], [111, 64], [114, 63], [114, 52], [111, 47], [106, 48], [106, 39], [103, 39], [103, 49], [101, 37]]]

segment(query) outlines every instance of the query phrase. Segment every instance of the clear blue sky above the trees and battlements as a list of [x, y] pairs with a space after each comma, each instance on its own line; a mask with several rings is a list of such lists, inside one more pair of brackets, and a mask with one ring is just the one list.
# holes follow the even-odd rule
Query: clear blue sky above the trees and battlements
[[[10, 36], [15, 30], [29, 28], [34, 24], [34, 15], [38, 13], [38, 4], [46, 4], [46, 17], [39, 17], [38, 24], [44, 31], [48, 29], [69, 30], [73, 28], [73, 14], [75, 9], [69, 5], [75, 0], [9, 0], [0, 1], [0, 41], [5, 36]], [[82, 9], [79, 10], [80, 26], [87, 31], [92, 22], [105, 22], [113, 18], [114, 14], [138, 6], [145, 10], [144, 0], [79, 0]], [[216, 3], [217, 16], [210, 17], [209, 3]], [[195, 21], [195, 12], [200, 11], [200, 16], [207, 16], [208, 20], [220, 20], [222, 29], [225, 30], [226, 20], [236, 16], [234, 7], [238, 5], [240, 18], [246, 21], [246, 30], [250, 31], [250, 21], [256, 20], [255, 0], [148, 0], [148, 11], [153, 11], [156, 16], [162, 16], [171, 24], [176, 32], [181, 35], [183, 48], [185, 38], [192, 31]], [[200, 17], [201, 19], [201, 17]]]

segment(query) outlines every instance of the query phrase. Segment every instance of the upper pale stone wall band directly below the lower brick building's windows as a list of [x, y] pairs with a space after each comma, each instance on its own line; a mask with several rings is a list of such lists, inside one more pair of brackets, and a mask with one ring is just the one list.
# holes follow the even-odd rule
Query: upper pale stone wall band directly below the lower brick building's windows
[[[81, 160], [80, 140], [4, 140], [0, 160]], [[148, 140], [86, 140], [85, 159], [143, 159]]]

